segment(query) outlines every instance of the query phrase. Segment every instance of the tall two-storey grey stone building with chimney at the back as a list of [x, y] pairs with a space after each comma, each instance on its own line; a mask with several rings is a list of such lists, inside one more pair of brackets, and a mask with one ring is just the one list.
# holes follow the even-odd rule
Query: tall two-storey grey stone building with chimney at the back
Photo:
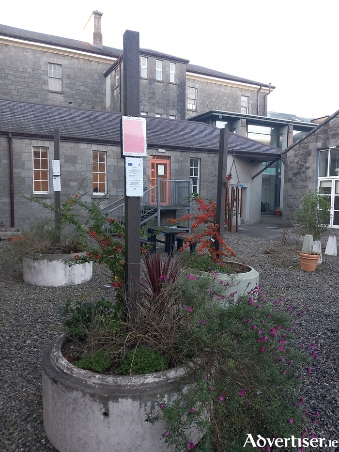
[[[103, 46], [102, 13], [92, 43], [0, 25], [0, 98], [122, 111], [123, 51]], [[185, 119], [211, 109], [266, 115], [274, 86], [140, 49], [140, 114]]]

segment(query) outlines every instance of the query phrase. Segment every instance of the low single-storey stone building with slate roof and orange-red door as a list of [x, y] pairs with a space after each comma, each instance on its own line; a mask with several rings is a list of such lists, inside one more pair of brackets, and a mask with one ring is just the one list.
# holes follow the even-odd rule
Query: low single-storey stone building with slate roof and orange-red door
[[[0, 222], [22, 227], [28, 218], [46, 212], [20, 194], [53, 203], [53, 129], [60, 129], [61, 201], [80, 188], [85, 201], [103, 199], [103, 205], [124, 195], [120, 154], [120, 113], [75, 109], [46, 104], [0, 100]], [[143, 161], [144, 189], [157, 177], [187, 181], [203, 198], [216, 199], [219, 130], [185, 120], [147, 117], [147, 154]], [[260, 221], [262, 162], [280, 157], [280, 151], [258, 141], [229, 133], [228, 168], [234, 162], [244, 186], [244, 223]], [[168, 205], [169, 204], [169, 205]], [[163, 209], [177, 207], [164, 195]], [[166, 215], [174, 216], [175, 211]], [[165, 217], [166, 217], [165, 215]]]

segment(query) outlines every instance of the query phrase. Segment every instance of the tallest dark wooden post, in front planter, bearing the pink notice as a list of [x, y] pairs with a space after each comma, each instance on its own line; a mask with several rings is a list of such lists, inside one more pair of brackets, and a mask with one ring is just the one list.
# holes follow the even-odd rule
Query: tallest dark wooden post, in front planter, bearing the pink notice
[[[139, 33], [126, 30], [123, 33], [123, 114], [125, 116], [139, 116], [139, 96]], [[125, 281], [128, 309], [135, 312], [139, 303], [140, 288], [140, 198], [127, 197], [126, 194]]]

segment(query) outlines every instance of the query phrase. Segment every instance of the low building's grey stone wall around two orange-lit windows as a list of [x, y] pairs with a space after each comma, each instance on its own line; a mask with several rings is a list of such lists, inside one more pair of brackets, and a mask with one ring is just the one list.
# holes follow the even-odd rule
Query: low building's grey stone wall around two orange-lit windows
[[[33, 163], [32, 146], [49, 148], [49, 195], [33, 195]], [[120, 148], [117, 146], [97, 145], [87, 143], [69, 143], [61, 141], [60, 156], [62, 165], [61, 202], [72, 196], [80, 188], [84, 201], [91, 202], [101, 196], [92, 194], [92, 151], [107, 152], [107, 186], [108, 196], [103, 205], [112, 203], [124, 194], [123, 159], [120, 158]], [[54, 202], [52, 159], [53, 141], [13, 139], [14, 154], [14, 197], [15, 197], [15, 227], [25, 227], [31, 218], [48, 218], [46, 209], [38, 204], [30, 203], [20, 198], [20, 194], [43, 199], [47, 203]], [[10, 226], [10, 183], [8, 140], [0, 138], [0, 222], [5, 227]]]

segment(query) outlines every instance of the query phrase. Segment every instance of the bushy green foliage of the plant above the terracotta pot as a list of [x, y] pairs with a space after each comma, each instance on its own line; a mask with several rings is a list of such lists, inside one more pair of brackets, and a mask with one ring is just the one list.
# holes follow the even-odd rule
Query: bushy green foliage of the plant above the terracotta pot
[[321, 235], [327, 230], [331, 219], [328, 196], [308, 190], [300, 200], [301, 209], [295, 210], [295, 220], [303, 228], [302, 234], [313, 235], [314, 240], [320, 240]]

